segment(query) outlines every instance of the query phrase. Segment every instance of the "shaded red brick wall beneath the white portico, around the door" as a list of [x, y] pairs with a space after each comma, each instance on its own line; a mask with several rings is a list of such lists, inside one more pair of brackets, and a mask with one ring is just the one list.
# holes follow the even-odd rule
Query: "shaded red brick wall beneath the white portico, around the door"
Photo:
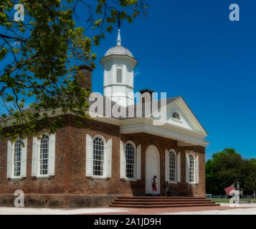
[[[177, 147], [175, 140], [170, 140], [164, 137], [149, 135], [146, 133], [139, 133], [133, 135], [122, 135], [123, 142], [133, 140], [136, 146], [141, 144], [141, 185], [137, 187], [139, 193], [145, 193], [145, 178], [146, 178], [146, 149], [149, 145], [155, 145], [160, 153], [160, 184], [161, 193], [165, 190], [165, 149], [174, 149], [176, 152], [181, 152], [181, 182], [177, 184], [169, 184], [173, 195], [205, 195], [205, 150], [204, 147], [191, 146], [191, 147]], [[186, 183], [186, 152], [193, 152], [194, 155], [199, 155], [199, 184], [191, 185]]]

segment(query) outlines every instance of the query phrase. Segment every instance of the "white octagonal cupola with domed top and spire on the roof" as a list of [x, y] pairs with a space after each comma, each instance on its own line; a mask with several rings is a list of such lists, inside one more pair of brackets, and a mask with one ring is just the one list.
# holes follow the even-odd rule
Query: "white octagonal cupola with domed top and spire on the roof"
[[108, 49], [100, 59], [104, 67], [104, 96], [123, 107], [134, 104], [133, 69], [137, 60], [133, 54], [121, 46], [120, 29], [118, 29], [117, 45]]

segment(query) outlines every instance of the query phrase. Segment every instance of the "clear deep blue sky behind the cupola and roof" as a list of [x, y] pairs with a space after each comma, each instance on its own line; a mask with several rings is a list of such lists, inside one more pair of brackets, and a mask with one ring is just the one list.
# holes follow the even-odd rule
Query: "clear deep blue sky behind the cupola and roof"
[[[121, 26], [122, 45], [138, 59], [135, 92], [149, 88], [182, 96], [209, 133], [207, 159], [225, 147], [256, 157], [256, 1], [147, 2], [146, 18]], [[240, 5], [240, 21], [229, 21], [233, 3]], [[82, 7], [77, 15], [78, 24], [85, 25]], [[100, 57], [116, 38], [117, 28], [93, 47], [98, 54], [94, 92], [103, 92]]]

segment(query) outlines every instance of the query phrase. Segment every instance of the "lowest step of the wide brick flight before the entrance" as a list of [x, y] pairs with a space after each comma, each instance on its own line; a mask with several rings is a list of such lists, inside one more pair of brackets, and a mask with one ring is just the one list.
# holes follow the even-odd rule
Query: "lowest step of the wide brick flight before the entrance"
[[128, 205], [128, 204], [117, 204], [117, 205], [110, 205], [110, 207], [115, 208], [184, 208], [184, 207], [207, 207], [207, 206], [219, 206], [219, 204], [214, 203], [200, 203], [200, 204], [176, 204], [176, 205]]

